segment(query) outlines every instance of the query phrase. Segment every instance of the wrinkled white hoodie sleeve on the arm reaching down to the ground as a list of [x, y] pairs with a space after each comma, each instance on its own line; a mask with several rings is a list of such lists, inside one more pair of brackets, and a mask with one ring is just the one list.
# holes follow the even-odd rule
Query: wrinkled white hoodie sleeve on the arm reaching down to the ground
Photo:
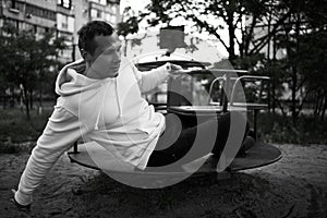
[[82, 136], [78, 119], [56, 106], [52, 116], [38, 138], [21, 177], [15, 199], [21, 205], [32, 202], [32, 193], [59, 157]]

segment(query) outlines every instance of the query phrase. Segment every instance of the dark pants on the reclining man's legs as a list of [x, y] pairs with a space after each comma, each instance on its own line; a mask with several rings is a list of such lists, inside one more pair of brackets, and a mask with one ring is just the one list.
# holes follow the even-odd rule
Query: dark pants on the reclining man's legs
[[243, 129], [240, 130], [242, 141], [249, 128], [246, 124], [245, 130], [245, 117], [239, 112], [219, 114], [217, 119], [215, 117], [215, 119], [183, 130], [181, 130], [182, 124], [175, 116], [166, 116], [165, 133], [159, 137], [156, 148], [149, 157], [147, 167], [167, 166], [181, 158], [183, 158], [184, 162], [189, 162], [210, 152], [220, 156], [227, 141], [232, 142], [234, 140], [233, 132], [229, 134], [231, 116], [232, 126]]

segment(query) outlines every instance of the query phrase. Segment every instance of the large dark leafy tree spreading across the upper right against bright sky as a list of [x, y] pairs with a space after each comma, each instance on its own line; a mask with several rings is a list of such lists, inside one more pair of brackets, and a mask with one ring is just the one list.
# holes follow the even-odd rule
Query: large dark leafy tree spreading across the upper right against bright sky
[[[120, 26], [126, 36], [129, 29], [137, 32], [141, 22], [165, 27], [179, 19], [198, 32], [207, 32], [226, 48], [234, 68], [271, 77], [270, 108], [275, 111], [279, 106], [284, 114], [290, 108], [296, 124], [306, 99], [326, 96], [326, 0], [152, 0], [143, 12], [124, 17], [123, 24], [130, 26]], [[221, 35], [223, 28], [228, 31], [227, 40]], [[258, 34], [258, 29], [264, 31]], [[287, 51], [281, 60], [276, 55], [278, 50]], [[291, 89], [288, 107], [280, 99], [283, 84]], [[315, 104], [315, 113], [322, 119], [326, 101], [318, 97]]]

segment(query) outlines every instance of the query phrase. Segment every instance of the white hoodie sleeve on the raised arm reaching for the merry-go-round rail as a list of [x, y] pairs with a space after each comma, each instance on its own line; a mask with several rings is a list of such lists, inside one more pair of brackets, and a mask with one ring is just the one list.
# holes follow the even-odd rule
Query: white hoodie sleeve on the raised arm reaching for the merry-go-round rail
[[166, 63], [152, 71], [140, 72], [136, 66], [133, 65], [133, 72], [138, 82], [141, 93], [150, 92], [164, 83], [170, 76], [170, 63]]

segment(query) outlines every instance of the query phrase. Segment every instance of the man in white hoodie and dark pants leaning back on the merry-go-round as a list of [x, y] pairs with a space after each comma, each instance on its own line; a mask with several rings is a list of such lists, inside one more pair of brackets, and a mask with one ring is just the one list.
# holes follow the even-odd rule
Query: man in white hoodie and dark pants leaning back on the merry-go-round
[[[37, 141], [36, 147], [21, 177], [14, 203], [28, 208], [32, 194], [58, 158], [74, 142], [96, 142], [136, 168], [169, 165], [183, 157], [192, 146], [196, 131], [213, 133], [213, 122], [206, 122], [178, 135], [177, 142], [162, 147], [160, 135], [175, 134], [174, 122], [155, 112], [142, 98], [181, 66], [167, 63], [149, 72], [138, 72], [121, 60], [121, 44], [112, 27], [93, 21], [78, 32], [78, 48], [83, 60], [64, 66], [57, 78], [56, 92], [60, 95], [55, 110]], [[239, 120], [244, 120], [242, 116]], [[229, 131], [229, 114], [219, 119], [214, 152], [223, 147]], [[217, 125], [217, 124], [216, 124]], [[165, 132], [165, 134], [162, 134]], [[155, 150], [155, 152], [154, 152]]]

